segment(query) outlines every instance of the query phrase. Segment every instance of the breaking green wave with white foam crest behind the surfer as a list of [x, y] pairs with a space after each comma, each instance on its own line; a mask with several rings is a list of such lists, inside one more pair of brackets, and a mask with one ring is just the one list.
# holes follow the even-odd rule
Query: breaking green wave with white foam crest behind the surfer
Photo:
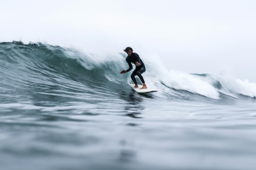
[[[1, 96], [5, 103], [35, 102], [51, 96], [63, 101], [76, 100], [80, 95], [116, 98], [116, 92], [131, 90], [127, 85], [131, 72], [119, 73], [128, 67], [123, 53], [96, 55], [47, 44], [11, 42], [0, 44], [0, 56]], [[241, 95], [256, 96], [255, 83], [221, 75], [181, 73], [167, 70], [156, 59], [144, 60], [147, 71], [143, 76], [149, 87], [159, 90], [156, 97], [208, 101], [223, 95], [241, 100]]]

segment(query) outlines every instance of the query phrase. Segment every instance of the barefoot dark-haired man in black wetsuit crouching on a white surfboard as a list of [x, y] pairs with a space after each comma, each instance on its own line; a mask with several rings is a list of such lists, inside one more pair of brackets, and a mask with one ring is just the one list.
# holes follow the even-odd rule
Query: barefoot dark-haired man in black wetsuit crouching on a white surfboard
[[135, 70], [132, 72], [132, 75], [131, 75], [131, 78], [132, 78], [132, 81], [134, 82], [135, 86], [134, 88], [138, 88], [138, 83], [135, 79], [135, 75], [138, 75], [138, 77], [140, 78], [141, 82], [143, 83], [143, 87], [140, 88], [140, 89], [147, 89], [147, 86], [145, 84], [145, 81], [142, 77], [142, 73], [144, 73], [146, 71], [146, 67], [144, 65], [144, 63], [142, 62], [142, 60], [140, 59], [139, 55], [137, 53], [133, 53], [132, 51], [132, 48], [131, 47], [127, 47], [125, 50], [124, 50], [128, 56], [126, 58], [126, 62], [128, 63], [129, 65], [129, 69], [128, 70], [123, 70], [121, 71], [120, 73], [121, 74], [124, 74], [124, 73], [127, 73], [129, 71], [132, 70], [132, 63], [135, 64], [136, 68]]

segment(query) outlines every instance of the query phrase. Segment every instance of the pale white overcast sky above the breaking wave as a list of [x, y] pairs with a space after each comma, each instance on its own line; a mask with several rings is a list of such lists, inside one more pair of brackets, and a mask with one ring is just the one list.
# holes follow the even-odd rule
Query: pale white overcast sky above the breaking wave
[[46, 42], [88, 53], [131, 46], [168, 69], [256, 83], [255, 0], [2, 0], [0, 42]]

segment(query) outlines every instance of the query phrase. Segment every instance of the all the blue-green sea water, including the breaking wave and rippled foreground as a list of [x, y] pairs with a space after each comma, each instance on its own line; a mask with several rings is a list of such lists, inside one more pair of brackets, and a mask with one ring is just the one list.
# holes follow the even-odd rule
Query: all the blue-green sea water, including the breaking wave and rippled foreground
[[158, 92], [124, 53], [0, 43], [0, 169], [255, 169], [256, 83], [140, 57]]

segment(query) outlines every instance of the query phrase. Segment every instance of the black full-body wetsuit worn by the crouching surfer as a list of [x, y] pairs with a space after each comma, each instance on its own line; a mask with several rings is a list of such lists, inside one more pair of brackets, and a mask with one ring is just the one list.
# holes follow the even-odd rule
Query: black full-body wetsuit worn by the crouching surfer
[[[136, 61], [138, 61], [140, 63], [139, 66], [136, 66], [136, 64], [135, 64]], [[143, 79], [141, 74], [146, 71], [146, 67], [145, 67], [143, 61], [140, 59], [139, 55], [137, 53], [132, 53], [131, 56], [127, 56], [126, 62], [129, 64], [129, 69], [126, 70], [126, 72], [132, 70], [132, 63], [134, 63], [135, 66], [136, 66], [135, 70], [132, 72], [132, 75], [131, 75], [132, 81], [135, 84], [138, 84], [136, 79], [135, 79], [135, 75], [138, 75], [138, 77], [140, 78], [141, 82], [145, 83], [145, 81], [144, 81], [144, 79]]]

